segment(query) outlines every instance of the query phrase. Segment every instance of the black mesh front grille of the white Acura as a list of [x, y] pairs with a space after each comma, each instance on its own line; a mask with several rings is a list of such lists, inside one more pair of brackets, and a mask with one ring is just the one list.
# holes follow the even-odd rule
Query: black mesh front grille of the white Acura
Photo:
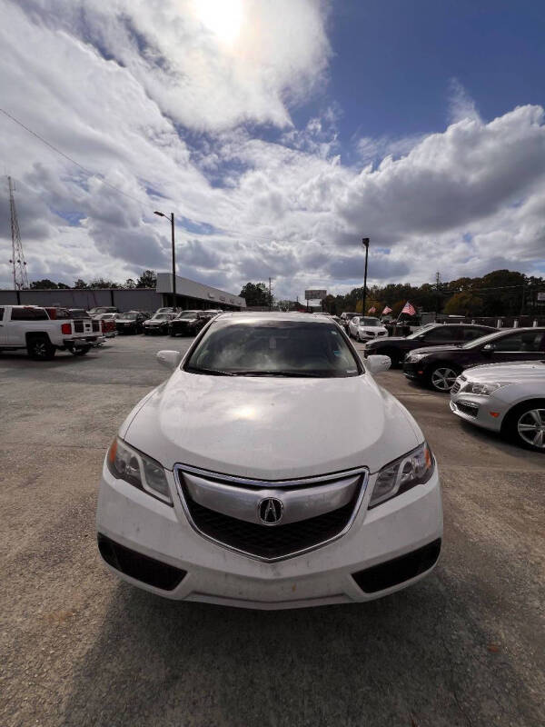
[[[315, 494], [316, 501], [319, 500], [321, 487], [330, 484], [332, 479], [336, 479], [342, 483], [343, 479], [348, 481], [348, 478], [352, 478], [353, 480], [354, 473], [358, 475], [357, 482], [352, 489], [350, 501], [343, 503], [341, 507], [335, 507], [333, 505], [334, 509], [329, 512], [320, 513], [314, 517], [306, 517], [296, 522], [267, 525], [258, 522], [248, 522], [246, 519], [243, 520], [239, 517], [233, 517], [230, 514], [218, 512], [213, 507], [216, 506], [220, 509], [221, 505], [219, 501], [217, 505], [208, 501], [208, 504], [212, 504], [213, 507], [207, 507], [202, 503], [197, 503], [193, 499], [191, 487], [184, 480], [183, 466], [179, 465], [175, 469], [179, 493], [185, 512], [193, 528], [204, 537], [222, 544], [231, 550], [264, 561], [282, 560], [304, 553], [325, 543], [329, 543], [347, 532], [358, 512], [367, 484], [366, 470], [339, 473], [333, 478], [331, 476], [329, 478], [324, 477], [322, 481], [320, 478], [312, 478], [312, 488], [305, 490], [305, 492], [311, 493], [308, 498], [309, 503], [312, 503], [312, 494]], [[195, 471], [192, 468], [192, 472]], [[202, 471], [199, 472], [202, 473]], [[217, 475], [215, 473], [206, 473], [206, 475], [206, 482], [213, 482], [216, 478], [221, 482], [224, 477], [224, 475]], [[289, 502], [289, 493], [296, 493], [298, 490], [301, 491], [303, 487], [303, 484], [296, 483], [308, 483], [308, 481], [265, 483], [256, 480], [228, 479], [230, 483], [233, 483], [233, 488], [238, 493], [248, 493], [250, 497], [255, 498], [256, 503], [262, 497], [263, 499], [267, 499], [271, 496], [278, 497], [282, 501], [282, 495], [286, 498], [286, 502]], [[252, 483], [252, 485], [246, 483]], [[281, 484], [281, 487], [278, 486], [279, 484]], [[292, 485], [291, 487], [290, 484]], [[288, 510], [288, 506], [286, 506], [286, 510]]]

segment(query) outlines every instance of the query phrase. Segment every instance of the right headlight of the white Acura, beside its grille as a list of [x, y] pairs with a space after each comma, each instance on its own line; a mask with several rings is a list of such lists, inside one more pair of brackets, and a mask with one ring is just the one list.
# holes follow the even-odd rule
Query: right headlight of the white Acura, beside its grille
[[427, 443], [382, 467], [372, 491], [369, 507], [374, 507], [417, 484], [427, 483], [435, 465]]

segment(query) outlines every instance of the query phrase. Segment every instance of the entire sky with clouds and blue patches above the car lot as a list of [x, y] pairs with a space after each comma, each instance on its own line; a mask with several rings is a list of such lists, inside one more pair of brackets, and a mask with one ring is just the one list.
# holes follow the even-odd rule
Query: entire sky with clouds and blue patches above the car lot
[[176, 215], [179, 273], [233, 293], [269, 276], [281, 297], [346, 292], [363, 235], [372, 283], [543, 273], [543, 3], [0, 0], [0, 13], [2, 107], [84, 166], [0, 115], [31, 279], [168, 269], [158, 206]]

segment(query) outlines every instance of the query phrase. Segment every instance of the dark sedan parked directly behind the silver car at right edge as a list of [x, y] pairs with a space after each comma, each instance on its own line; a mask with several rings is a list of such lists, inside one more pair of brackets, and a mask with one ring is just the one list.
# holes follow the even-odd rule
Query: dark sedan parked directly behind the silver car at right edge
[[461, 346], [419, 348], [403, 363], [403, 373], [438, 392], [450, 392], [457, 376], [471, 366], [545, 359], [545, 327], [509, 328]]

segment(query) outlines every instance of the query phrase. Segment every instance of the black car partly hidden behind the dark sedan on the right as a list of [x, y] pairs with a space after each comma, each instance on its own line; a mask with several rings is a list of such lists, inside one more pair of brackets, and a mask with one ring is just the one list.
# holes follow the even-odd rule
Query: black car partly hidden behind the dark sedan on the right
[[405, 354], [422, 346], [441, 346], [467, 344], [476, 338], [495, 331], [490, 325], [474, 324], [427, 324], [406, 338], [391, 336], [378, 341], [370, 341], [365, 346], [365, 356], [383, 354], [390, 356], [391, 365], [401, 364]]

